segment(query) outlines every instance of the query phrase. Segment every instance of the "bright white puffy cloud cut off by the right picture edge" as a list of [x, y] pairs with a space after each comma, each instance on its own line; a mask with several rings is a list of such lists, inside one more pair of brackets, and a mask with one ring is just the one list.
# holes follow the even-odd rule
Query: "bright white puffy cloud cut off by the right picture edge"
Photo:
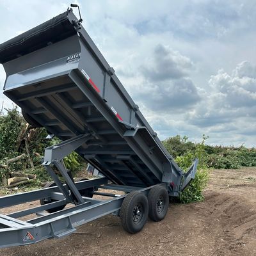
[[219, 70], [209, 79], [209, 87], [209, 96], [188, 113], [189, 123], [204, 127], [214, 136], [231, 132], [237, 138], [255, 137], [255, 66], [243, 61], [230, 74]]

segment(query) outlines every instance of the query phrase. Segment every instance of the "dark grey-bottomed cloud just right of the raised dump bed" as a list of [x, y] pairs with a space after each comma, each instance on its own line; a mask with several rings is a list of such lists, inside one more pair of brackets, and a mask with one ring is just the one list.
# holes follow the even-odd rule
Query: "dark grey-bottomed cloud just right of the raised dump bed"
[[192, 106], [200, 96], [188, 76], [191, 68], [193, 62], [188, 57], [159, 44], [141, 65], [142, 81], [134, 86], [132, 94], [155, 111]]

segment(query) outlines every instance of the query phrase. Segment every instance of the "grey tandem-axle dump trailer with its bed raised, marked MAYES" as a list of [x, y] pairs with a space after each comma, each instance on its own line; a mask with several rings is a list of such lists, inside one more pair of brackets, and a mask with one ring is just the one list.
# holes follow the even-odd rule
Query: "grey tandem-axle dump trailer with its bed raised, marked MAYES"
[[[107, 214], [134, 234], [148, 217], [163, 220], [169, 197], [195, 178], [198, 160], [187, 172], [179, 168], [81, 22], [68, 8], [0, 45], [4, 95], [29, 124], [61, 140], [42, 161], [52, 182], [0, 198], [0, 208], [40, 202], [0, 214], [0, 248], [61, 238]], [[73, 179], [63, 162], [72, 151], [104, 177]]]

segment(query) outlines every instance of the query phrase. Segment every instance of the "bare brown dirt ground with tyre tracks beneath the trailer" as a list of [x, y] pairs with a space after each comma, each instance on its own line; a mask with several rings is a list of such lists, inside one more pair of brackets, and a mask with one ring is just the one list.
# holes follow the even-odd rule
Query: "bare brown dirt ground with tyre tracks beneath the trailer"
[[64, 239], [0, 249], [0, 255], [256, 255], [256, 169], [214, 170], [204, 195], [202, 203], [170, 204], [163, 221], [148, 220], [135, 235], [106, 216]]

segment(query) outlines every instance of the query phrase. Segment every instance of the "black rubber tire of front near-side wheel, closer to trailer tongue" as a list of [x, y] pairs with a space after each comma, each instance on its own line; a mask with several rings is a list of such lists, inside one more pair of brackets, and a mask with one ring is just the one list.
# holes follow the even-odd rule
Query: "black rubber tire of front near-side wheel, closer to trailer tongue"
[[[136, 204], [140, 203], [143, 207], [143, 217], [140, 223], [134, 223], [132, 213]], [[148, 199], [143, 193], [132, 191], [124, 198], [120, 209], [120, 220], [122, 227], [130, 234], [139, 232], [145, 225], [148, 219]]]

